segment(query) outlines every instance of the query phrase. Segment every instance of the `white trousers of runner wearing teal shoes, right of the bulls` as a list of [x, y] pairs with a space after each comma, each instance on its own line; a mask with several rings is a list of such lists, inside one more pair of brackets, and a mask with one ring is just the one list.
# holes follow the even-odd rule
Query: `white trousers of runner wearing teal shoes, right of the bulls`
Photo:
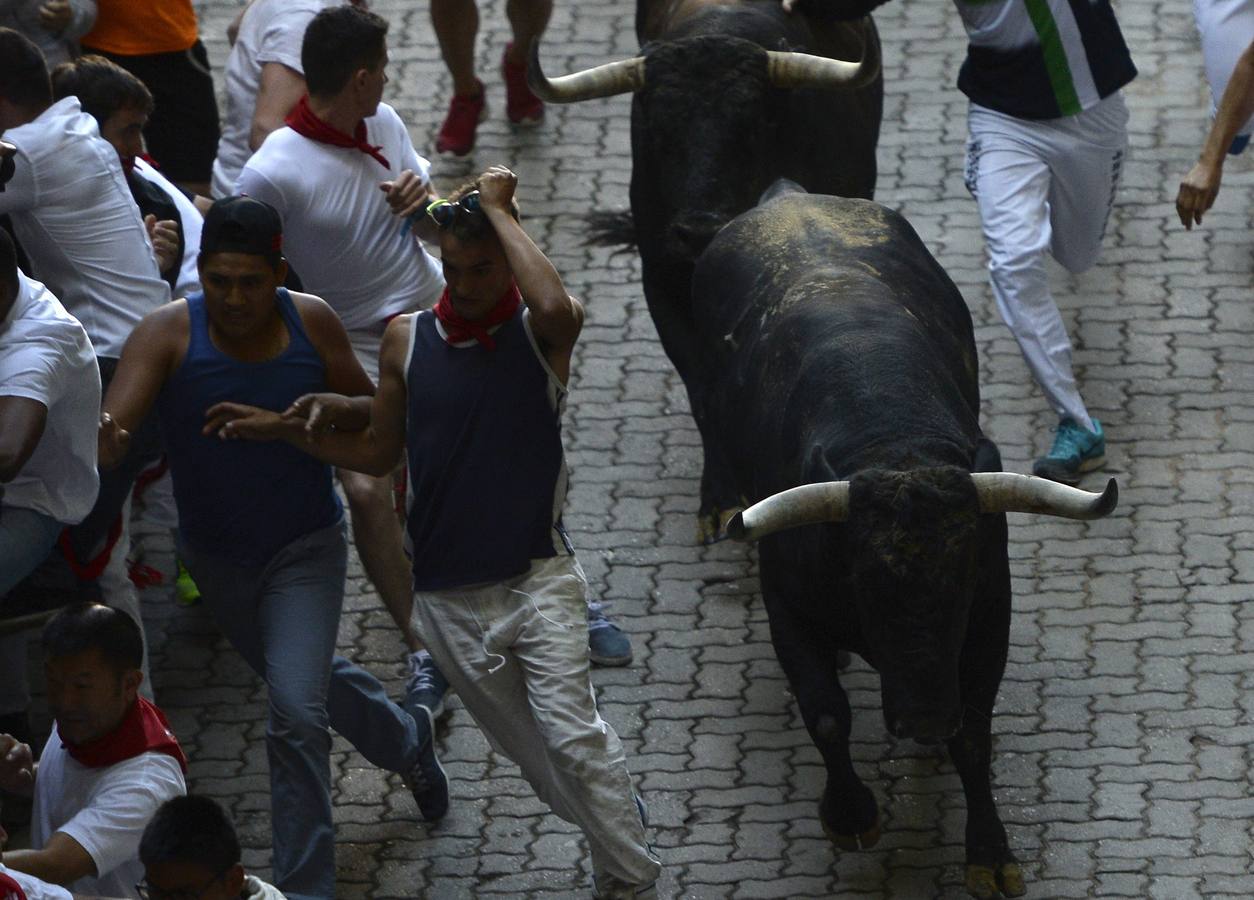
[[979, 204], [997, 310], [1055, 412], [1091, 431], [1045, 252], [1072, 272], [1097, 261], [1127, 148], [1124, 98], [1047, 120], [972, 104], [967, 127], [964, 181]]

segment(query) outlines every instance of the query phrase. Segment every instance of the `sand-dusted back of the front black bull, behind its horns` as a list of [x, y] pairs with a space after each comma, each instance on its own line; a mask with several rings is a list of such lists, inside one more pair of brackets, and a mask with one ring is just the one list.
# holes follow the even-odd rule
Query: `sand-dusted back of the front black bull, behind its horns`
[[813, 445], [851, 461], [903, 427], [953, 446], [979, 437], [967, 306], [877, 203], [794, 193], [740, 216], [698, 261], [692, 296], [717, 394], [735, 399], [725, 440], [745, 449], [746, 490], [776, 489], [750, 484], [762, 459], [796, 478]]

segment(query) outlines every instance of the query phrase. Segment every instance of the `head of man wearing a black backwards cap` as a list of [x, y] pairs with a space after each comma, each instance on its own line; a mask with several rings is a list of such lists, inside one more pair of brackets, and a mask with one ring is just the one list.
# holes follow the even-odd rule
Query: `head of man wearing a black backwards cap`
[[282, 221], [268, 203], [226, 197], [209, 207], [197, 268], [218, 333], [248, 337], [275, 315], [275, 290], [287, 277], [282, 246]]

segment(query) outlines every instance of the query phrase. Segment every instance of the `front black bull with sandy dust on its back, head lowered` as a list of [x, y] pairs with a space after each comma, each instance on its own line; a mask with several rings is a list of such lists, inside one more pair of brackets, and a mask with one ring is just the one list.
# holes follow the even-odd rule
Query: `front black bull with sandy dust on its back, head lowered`
[[969, 312], [910, 226], [868, 201], [781, 193], [697, 261], [692, 312], [706, 440], [745, 495], [771, 498], [730, 530], [761, 542], [771, 639], [828, 771], [823, 827], [844, 849], [879, 837], [849, 757], [843, 648], [879, 669], [893, 733], [948, 741], [968, 889], [1018, 896], [989, 786], [1011, 614], [1004, 511], [1096, 518], [1114, 483], [1093, 495], [999, 474]]

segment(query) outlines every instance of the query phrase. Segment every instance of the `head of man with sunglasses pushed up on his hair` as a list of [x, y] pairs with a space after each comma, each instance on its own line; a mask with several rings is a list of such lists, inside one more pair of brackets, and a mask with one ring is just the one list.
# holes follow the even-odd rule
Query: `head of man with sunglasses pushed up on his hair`
[[[469, 182], [450, 193], [445, 199], [453, 213], [446, 224], [438, 222], [449, 300], [458, 315], [472, 321], [487, 316], [514, 281], [497, 231], [474, 202], [478, 197], [472, 197], [477, 191], [478, 184]], [[517, 219], [517, 203], [510, 212]]]

